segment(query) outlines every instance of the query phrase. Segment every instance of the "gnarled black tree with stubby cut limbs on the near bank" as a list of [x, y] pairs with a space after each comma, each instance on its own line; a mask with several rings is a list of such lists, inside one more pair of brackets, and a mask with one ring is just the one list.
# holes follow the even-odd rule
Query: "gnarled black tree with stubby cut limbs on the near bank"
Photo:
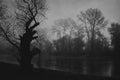
[[[37, 33], [35, 28], [43, 21], [43, 17], [45, 17], [46, 1], [15, 0], [15, 2], [17, 9], [15, 12], [16, 25], [14, 31], [16, 33], [12, 36], [17, 37], [17, 42], [20, 42], [20, 44], [17, 45], [12, 41], [12, 36], [6, 33], [6, 29], [1, 29], [6, 40], [18, 49], [19, 53], [17, 54], [17, 60], [20, 63], [21, 69], [23, 71], [28, 71], [32, 69], [31, 60], [33, 56], [36, 55], [34, 50], [30, 51], [31, 42], [38, 37], [35, 36]], [[7, 27], [10, 28], [11, 26]]]

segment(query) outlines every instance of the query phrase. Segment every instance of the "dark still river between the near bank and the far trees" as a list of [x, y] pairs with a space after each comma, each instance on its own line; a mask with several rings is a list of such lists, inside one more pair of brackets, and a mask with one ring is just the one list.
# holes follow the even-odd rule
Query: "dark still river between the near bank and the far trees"
[[[17, 61], [9, 55], [1, 55], [0, 61], [18, 64]], [[40, 59], [35, 57], [33, 64], [34, 67], [38, 67], [37, 65], [39, 64], [42, 68], [68, 71], [85, 75], [107, 77], [120, 76], [119, 62], [115, 65], [113, 59], [110, 58], [42, 56]]]

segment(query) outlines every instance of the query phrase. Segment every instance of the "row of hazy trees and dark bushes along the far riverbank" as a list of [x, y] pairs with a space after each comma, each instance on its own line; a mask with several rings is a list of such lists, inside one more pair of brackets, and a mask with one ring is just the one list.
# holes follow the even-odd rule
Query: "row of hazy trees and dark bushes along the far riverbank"
[[[105, 19], [101, 10], [90, 8], [72, 18], [58, 19], [52, 26], [52, 52], [57, 56], [113, 56], [119, 52], [119, 24]], [[107, 30], [110, 38], [106, 37]], [[107, 35], [108, 36], [108, 35]], [[50, 50], [51, 51], [51, 50]], [[119, 54], [119, 53], [118, 53]]]

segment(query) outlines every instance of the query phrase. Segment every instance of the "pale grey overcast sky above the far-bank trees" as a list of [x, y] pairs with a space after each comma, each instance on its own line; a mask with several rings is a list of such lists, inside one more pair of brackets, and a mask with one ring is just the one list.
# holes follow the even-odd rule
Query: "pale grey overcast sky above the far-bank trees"
[[48, 0], [48, 24], [58, 18], [72, 17], [88, 8], [99, 8], [109, 21], [120, 21], [120, 0]]

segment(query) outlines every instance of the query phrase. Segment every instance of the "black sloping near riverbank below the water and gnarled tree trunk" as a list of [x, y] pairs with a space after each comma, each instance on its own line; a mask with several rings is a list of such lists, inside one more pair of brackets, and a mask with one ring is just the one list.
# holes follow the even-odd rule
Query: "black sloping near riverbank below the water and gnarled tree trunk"
[[32, 72], [19, 72], [19, 66], [0, 62], [1, 78], [34, 79], [34, 80], [120, 80], [117, 77], [100, 77], [81, 75], [70, 72], [55, 71], [49, 69], [34, 69]]

